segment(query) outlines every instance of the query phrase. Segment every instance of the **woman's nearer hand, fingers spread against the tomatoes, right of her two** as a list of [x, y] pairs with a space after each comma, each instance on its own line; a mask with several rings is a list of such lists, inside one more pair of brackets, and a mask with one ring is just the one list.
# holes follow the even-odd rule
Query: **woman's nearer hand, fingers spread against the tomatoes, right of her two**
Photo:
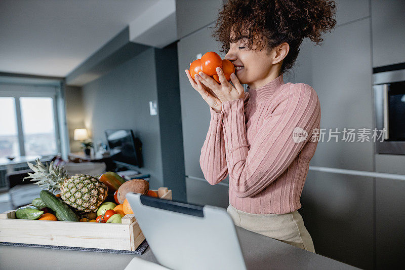
[[236, 78], [235, 73], [231, 74], [231, 85], [225, 78], [224, 72], [220, 67], [217, 67], [217, 74], [220, 84], [217, 83], [214, 79], [208, 76], [203, 71], [195, 75], [197, 81], [200, 81], [203, 85], [209, 88], [221, 102], [236, 100], [239, 98], [245, 97], [245, 89], [240, 84], [239, 80]]

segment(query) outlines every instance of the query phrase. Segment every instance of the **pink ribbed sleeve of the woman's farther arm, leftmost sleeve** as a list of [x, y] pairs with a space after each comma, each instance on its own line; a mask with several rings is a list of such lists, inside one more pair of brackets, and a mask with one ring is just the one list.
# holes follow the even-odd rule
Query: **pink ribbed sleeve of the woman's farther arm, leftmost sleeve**
[[199, 164], [205, 179], [212, 185], [218, 184], [228, 175], [225, 158], [225, 141], [222, 131], [223, 113], [210, 107], [210, 127], [201, 148]]

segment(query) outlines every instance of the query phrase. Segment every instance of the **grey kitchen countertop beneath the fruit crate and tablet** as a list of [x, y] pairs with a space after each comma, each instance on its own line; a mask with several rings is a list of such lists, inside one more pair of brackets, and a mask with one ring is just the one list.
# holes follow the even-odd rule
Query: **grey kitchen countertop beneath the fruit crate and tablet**
[[[248, 269], [357, 269], [241, 227], [236, 232]], [[124, 269], [134, 256], [157, 262], [150, 247], [132, 255], [0, 245], [2, 269]]]

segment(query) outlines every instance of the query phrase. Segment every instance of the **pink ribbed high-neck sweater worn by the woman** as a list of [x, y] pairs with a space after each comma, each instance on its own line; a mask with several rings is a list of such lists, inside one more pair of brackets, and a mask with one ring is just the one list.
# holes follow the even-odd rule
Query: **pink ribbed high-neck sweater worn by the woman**
[[[249, 89], [249, 88], [248, 88]], [[307, 84], [284, 83], [282, 74], [245, 92], [245, 98], [211, 107], [200, 166], [215, 185], [229, 173], [229, 203], [254, 214], [285, 214], [301, 207], [300, 197], [320, 128], [320, 104]], [[294, 128], [308, 136], [293, 139]]]

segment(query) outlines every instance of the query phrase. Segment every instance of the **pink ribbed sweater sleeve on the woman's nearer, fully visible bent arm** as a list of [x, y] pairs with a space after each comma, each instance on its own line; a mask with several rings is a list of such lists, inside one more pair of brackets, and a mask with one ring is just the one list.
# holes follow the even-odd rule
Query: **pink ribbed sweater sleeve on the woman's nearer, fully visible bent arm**
[[222, 103], [229, 184], [240, 198], [258, 194], [277, 179], [320, 121], [320, 104], [312, 87], [291, 84], [278, 95], [274, 110], [250, 145], [242, 108], [242, 99]]

